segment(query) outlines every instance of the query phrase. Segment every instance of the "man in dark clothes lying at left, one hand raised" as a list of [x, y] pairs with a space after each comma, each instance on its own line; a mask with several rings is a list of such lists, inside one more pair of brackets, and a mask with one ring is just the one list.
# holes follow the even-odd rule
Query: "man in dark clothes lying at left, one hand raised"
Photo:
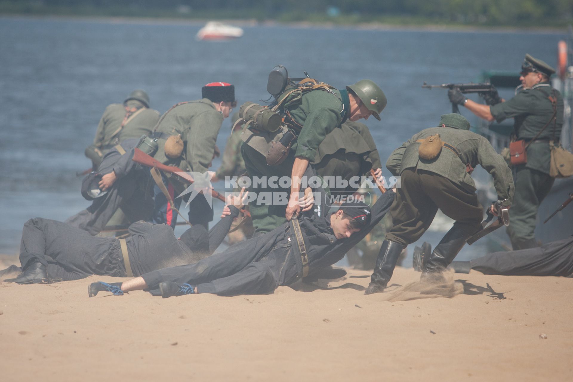
[[[197, 225], [186, 230], [180, 239], [169, 226], [143, 221], [129, 226], [127, 238], [117, 239], [93, 237], [56, 220], [30, 219], [22, 230], [21, 273], [6, 281], [52, 283], [92, 274], [135, 277], [166, 266], [196, 263], [213, 254], [221, 244], [245, 199], [244, 191], [231, 196], [222, 219], [209, 233]], [[6, 271], [13, 273], [14, 266]]]

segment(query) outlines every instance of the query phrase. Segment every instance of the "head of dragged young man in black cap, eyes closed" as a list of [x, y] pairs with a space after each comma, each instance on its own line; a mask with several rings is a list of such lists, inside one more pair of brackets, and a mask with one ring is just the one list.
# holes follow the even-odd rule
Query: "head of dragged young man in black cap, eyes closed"
[[350, 238], [367, 226], [371, 218], [371, 210], [366, 203], [343, 203], [330, 215], [330, 227], [337, 239]]

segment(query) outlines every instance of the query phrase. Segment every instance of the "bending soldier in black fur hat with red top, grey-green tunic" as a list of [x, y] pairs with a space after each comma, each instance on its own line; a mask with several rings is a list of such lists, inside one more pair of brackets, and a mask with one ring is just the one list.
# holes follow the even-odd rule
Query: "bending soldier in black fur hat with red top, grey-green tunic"
[[[158, 151], [154, 158], [163, 164], [179, 167], [182, 171], [205, 173], [213, 160], [215, 142], [223, 119], [229, 117], [236, 106], [235, 87], [226, 82], [211, 82], [203, 86], [203, 98], [176, 104], [159, 120], [152, 134], [157, 138]], [[167, 152], [165, 144], [171, 136], [180, 136], [179, 152]], [[181, 203], [179, 195], [185, 185], [169, 178], [167, 186], [176, 207]], [[175, 194], [176, 192], [176, 194]], [[171, 210], [167, 199], [158, 186], [154, 187], [154, 214], [152, 222], [175, 226], [177, 215]], [[213, 220], [213, 210], [203, 195], [195, 197], [189, 206], [189, 222], [205, 227]]]

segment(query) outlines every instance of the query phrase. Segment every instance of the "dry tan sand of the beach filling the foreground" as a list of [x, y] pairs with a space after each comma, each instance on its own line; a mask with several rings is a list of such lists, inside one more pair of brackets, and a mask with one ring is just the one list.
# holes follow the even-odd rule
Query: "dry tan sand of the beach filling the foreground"
[[573, 380], [573, 279], [456, 274], [445, 298], [398, 268], [364, 296], [369, 275], [230, 298], [3, 282], [0, 380]]

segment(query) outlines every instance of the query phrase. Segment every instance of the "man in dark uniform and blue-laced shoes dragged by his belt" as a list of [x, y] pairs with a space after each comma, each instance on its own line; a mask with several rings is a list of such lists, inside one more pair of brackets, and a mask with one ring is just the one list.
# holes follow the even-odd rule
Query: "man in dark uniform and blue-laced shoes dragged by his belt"
[[394, 192], [384, 193], [372, 208], [360, 202], [346, 203], [327, 215], [325, 200], [321, 198], [321, 204], [298, 219], [198, 263], [151, 271], [123, 283], [94, 282], [89, 286], [89, 296], [100, 291], [121, 295], [139, 289], [149, 289], [164, 298], [194, 293], [272, 293], [278, 286], [291, 285], [342, 259], [380, 222], [394, 200]]

